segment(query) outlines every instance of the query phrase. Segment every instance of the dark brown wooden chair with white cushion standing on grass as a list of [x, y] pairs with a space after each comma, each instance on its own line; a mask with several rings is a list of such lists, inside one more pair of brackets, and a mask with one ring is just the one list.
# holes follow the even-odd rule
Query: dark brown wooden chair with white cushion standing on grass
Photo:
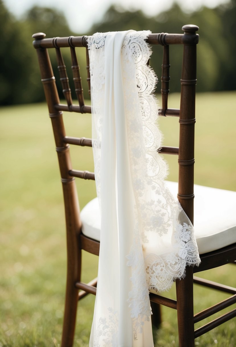
[[[160, 110], [160, 115], [164, 117], [179, 117], [180, 141], [179, 148], [163, 146], [161, 152], [163, 154], [178, 155], [178, 199], [184, 211], [187, 213], [188, 217], [193, 222], [195, 85], [197, 82], [196, 47], [199, 40], [199, 36], [198, 34], [196, 34], [198, 27], [195, 25], [185, 25], [183, 26], [182, 30], [184, 31], [184, 34], [151, 34], [148, 36], [147, 41], [151, 45], [163, 46], [163, 64], [161, 77], [162, 109]], [[88, 293], [96, 294], [96, 279], [92, 280], [88, 284], [82, 283], [80, 281], [81, 250], [84, 249], [87, 252], [99, 255], [100, 237], [99, 230], [93, 229], [93, 231], [91, 231], [89, 221], [86, 220], [86, 217], [84, 217], [84, 225], [82, 228], [78, 196], [74, 180], [75, 177], [94, 180], [94, 174], [88, 171], [74, 170], [72, 168], [69, 150], [69, 144], [91, 147], [91, 139], [84, 137], [75, 138], [66, 136], [62, 118], [63, 111], [91, 113], [91, 107], [84, 104], [83, 88], [81, 84], [79, 65], [75, 53], [76, 47], [84, 48], [84, 54], [86, 54], [87, 57], [87, 81], [90, 89], [89, 54], [87, 49], [87, 37], [70, 36], [47, 39], [45, 38], [45, 34], [37, 33], [33, 35], [33, 38], [33, 44], [38, 54], [42, 82], [48, 104], [49, 117], [52, 121], [64, 193], [67, 232], [67, 284], [63, 336], [61, 346], [70, 347], [73, 345], [78, 299], [80, 300]], [[169, 45], [183, 46], [180, 109], [170, 109], [167, 107], [170, 80]], [[60, 50], [60, 48], [62, 47], [67, 47], [71, 51], [73, 81], [79, 105], [75, 105], [72, 103], [71, 90], [67, 78], [66, 67], [64, 65], [62, 53]], [[47, 49], [55, 49], [56, 51], [60, 80], [62, 83], [63, 93], [67, 104], [60, 103], [55, 83], [55, 77], [52, 71], [51, 61], [49, 59]], [[172, 188], [171, 189], [174, 191], [174, 189], [177, 189], [177, 186], [173, 186]], [[209, 210], [211, 210], [208, 211], [209, 221], [211, 217], [214, 219], [219, 215], [217, 211], [215, 212], [215, 214], [213, 211], [213, 216], [211, 215], [212, 208], [215, 206], [214, 204], [216, 199], [218, 201], [219, 199], [222, 199], [222, 201], [225, 201], [226, 205], [228, 201], [229, 207], [227, 208], [229, 209], [230, 204], [232, 205], [232, 202], [235, 202], [235, 195], [233, 192], [227, 192], [222, 191], [220, 189], [200, 186], [197, 186], [195, 188], [195, 191], [197, 192], [196, 199], [198, 198], [198, 194], [199, 196], [203, 196], [203, 201], [200, 200], [200, 202], [198, 203], [200, 207], [198, 207], [201, 209], [202, 203], [204, 202], [207, 206], [206, 210], [208, 208]], [[85, 212], [89, 212], [88, 206], [85, 207]], [[84, 213], [84, 215], [86, 215], [86, 213]], [[200, 225], [202, 225], [201, 213], [204, 213], [204, 211], [200, 211], [200, 215], [197, 216], [200, 219]], [[198, 220], [196, 221], [196, 223], [197, 222]], [[193, 347], [194, 338], [202, 335], [205, 332], [208, 332], [209, 330], [217, 327], [219, 324], [226, 322], [230, 318], [236, 316], [236, 309], [234, 309], [233, 311], [224, 314], [220, 318], [217, 318], [214, 321], [194, 331], [194, 323], [199, 322], [202, 319], [209, 317], [210, 315], [236, 302], [236, 288], [231, 288], [226, 285], [220, 285], [218, 283], [199, 278], [193, 278], [193, 273], [195, 272], [212, 269], [217, 266], [235, 261], [235, 217], [234, 220], [230, 220], [230, 223], [227, 225], [227, 227], [224, 227], [224, 220], [222, 221], [222, 223], [219, 223], [220, 230], [217, 230], [215, 234], [213, 233], [213, 235], [211, 236], [206, 235], [207, 232], [205, 232], [205, 234], [203, 232], [203, 236], [198, 236], [196, 230], [197, 227], [195, 228], [197, 243], [200, 251], [199, 253], [201, 255], [201, 264], [199, 267], [187, 267], [186, 277], [181, 281], [176, 281], [176, 301], [153, 293], [150, 294], [152, 308], [154, 313], [156, 312], [153, 323], [157, 324], [158, 321], [160, 321], [160, 310], [158, 310], [159, 304], [166, 305], [177, 310], [180, 347]], [[216, 223], [214, 223], [214, 226], [215, 224]], [[227, 293], [233, 294], [233, 296], [194, 315], [193, 282], [199, 283], [207, 287], [223, 290]]]

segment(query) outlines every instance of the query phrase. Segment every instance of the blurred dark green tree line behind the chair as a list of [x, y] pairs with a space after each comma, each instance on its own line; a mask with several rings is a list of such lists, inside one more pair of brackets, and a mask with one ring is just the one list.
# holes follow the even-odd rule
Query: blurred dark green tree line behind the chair
[[[184, 24], [196, 24], [200, 27], [198, 45], [198, 84], [197, 91], [236, 90], [236, 0], [225, 5], [186, 13], [176, 3], [161, 14], [148, 17], [142, 11], [124, 11], [111, 6], [99, 23], [94, 24], [87, 33], [71, 32], [64, 14], [56, 9], [34, 6], [20, 20], [4, 6], [0, 0], [0, 104], [18, 104], [39, 102], [44, 99], [43, 87], [36, 52], [32, 46], [31, 35], [44, 32], [47, 37], [93, 34], [94, 32], [122, 31], [128, 29], [151, 30], [153, 33], [180, 33]], [[161, 76], [162, 50], [154, 48], [151, 66], [157, 76]], [[62, 50], [63, 51], [63, 50]], [[69, 53], [69, 52], [68, 52]], [[71, 59], [64, 55], [69, 77]], [[69, 53], [70, 54], [70, 53]], [[181, 48], [175, 51], [171, 64], [170, 90], [180, 90], [180, 76], [175, 67], [181, 61]], [[88, 97], [86, 85], [84, 49], [78, 49], [79, 64], [85, 97]], [[52, 65], [57, 78], [57, 63], [52, 57]], [[72, 87], [72, 86], [71, 86]], [[73, 89], [73, 88], [72, 88]], [[60, 92], [61, 93], [61, 92]], [[75, 97], [75, 95], [72, 95]]]

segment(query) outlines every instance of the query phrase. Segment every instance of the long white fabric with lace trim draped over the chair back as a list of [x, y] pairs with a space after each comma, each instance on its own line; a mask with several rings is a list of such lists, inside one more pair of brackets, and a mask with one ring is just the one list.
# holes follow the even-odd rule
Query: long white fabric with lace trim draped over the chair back
[[169, 289], [200, 259], [193, 227], [165, 185], [147, 66], [149, 31], [88, 38], [92, 145], [101, 236], [90, 347], [152, 347], [149, 290]]

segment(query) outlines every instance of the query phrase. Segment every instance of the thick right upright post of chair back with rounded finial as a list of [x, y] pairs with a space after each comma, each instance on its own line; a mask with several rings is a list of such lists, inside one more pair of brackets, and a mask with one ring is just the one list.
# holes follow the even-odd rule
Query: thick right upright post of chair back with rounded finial
[[193, 223], [193, 180], [194, 180], [194, 125], [195, 95], [197, 84], [196, 26], [184, 25], [183, 64], [180, 96], [179, 136], [179, 188], [178, 199], [183, 210]]

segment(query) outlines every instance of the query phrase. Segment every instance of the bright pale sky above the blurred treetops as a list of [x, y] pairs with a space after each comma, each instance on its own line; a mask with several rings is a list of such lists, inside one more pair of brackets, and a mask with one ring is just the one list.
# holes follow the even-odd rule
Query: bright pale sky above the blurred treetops
[[[3, 0], [6, 7], [18, 18], [34, 5], [56, 7], [64, 12], [72, 31], [86, 33], [93, 23], [99, 21], [112, 3], [125, 9], [142, 9], [147, 15], [155, 15], [171, 7], [174, 0]], [[187, 10], [198, 10], [205, 5], [214, 8], [228, 0], [176, 0]]]

